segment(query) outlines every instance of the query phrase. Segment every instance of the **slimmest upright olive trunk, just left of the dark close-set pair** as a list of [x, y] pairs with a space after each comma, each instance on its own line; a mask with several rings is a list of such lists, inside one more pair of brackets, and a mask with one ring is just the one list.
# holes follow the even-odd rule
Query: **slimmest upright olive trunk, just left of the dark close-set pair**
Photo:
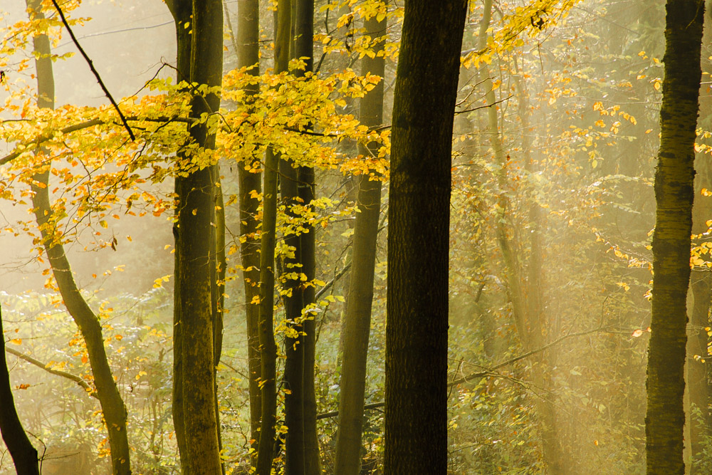
[[[279, 0], [275, 26], [275, 72], [287, 71], [291, 24], [290, 0]], [[265, 156], [260, 251], [260, 313], [262, 422], [257, 454], [257, 474], [270, 475], [273, 461], [277, 410], [276, 358], [274, 340], [274, 246], [277, 224], [277, 167], [279, 157], [272, 149]]]

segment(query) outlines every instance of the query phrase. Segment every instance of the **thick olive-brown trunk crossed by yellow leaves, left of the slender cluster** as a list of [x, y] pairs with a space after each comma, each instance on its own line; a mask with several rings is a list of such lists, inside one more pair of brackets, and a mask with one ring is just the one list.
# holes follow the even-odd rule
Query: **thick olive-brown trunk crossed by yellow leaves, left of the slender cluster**
[[[192, 5], [190, 81], [210, 87], [222, 78], [222, 4], [219, 0]], [[180, 53], [179, 47], [179, 53]], [[184, 71], [179, 71], [184, 73]], [[214, 113], [219, 95], [195, 95], [192, 115]], [[201, 149], [214, 148], [215, 136], [205, 124], [190, 128], [192, 140]], [[189, 173], [176, 177], [179, 190], [176, 249], [179, 269], [177, 286], [180, 307], [180, 358], [182, 359], [182, 454], [184, 473], [221, 472], [219, 427], [215, 400], [216, 234], [215, 165], [184, 162]], [[197, 169], [195, 169], [197, 167]]]

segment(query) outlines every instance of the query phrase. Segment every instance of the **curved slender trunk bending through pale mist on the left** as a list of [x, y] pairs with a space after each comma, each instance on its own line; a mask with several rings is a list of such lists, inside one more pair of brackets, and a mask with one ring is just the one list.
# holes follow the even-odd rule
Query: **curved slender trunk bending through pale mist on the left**
[[[32, 16], [43, 18], [40, 2], [27, 1], [26, 3]], [[33, 40], [33, 47], [38, 54], [35, 62], [37, 71], [37, 105], [41, 108], [54, 108], [54, 75], [50, 58], [49, 38], [45, 35], [36, 36]], [[84, 300], [74, 281], [64, 246], [56, 242], [60, 231], [57, 229], [49, 198], [47, 186], [49, 172], [42, 172], [36, 175], [34, 179], [35, 184], [32, 186], [33, 212], [41, 232], [45, 253], [64, 304], [86, 343], [89, 365], [94, 376], [96, 395], [108, 430], [112, 470], [115, 475], [130, 474], [126, 407], [116, 387], [116, 382], [106, 357], [101, 323]]]

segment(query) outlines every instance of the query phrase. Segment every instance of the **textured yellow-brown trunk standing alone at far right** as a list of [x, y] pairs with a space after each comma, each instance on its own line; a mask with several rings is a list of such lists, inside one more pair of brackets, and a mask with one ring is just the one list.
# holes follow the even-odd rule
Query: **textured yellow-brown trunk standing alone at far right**
[[653, 300], [645, 417], [648, 474], [684, 474], [686, 296], [703, 0], [666, 4], [660, 149], [655, 174]]

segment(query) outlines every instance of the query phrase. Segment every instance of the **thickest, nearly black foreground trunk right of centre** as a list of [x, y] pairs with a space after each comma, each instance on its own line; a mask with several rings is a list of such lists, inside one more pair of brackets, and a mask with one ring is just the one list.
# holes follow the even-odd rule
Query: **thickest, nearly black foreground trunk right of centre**
[[466, 0], [405, 4], [392, 120], [384, 473], [447, 473], [449, 207]]

